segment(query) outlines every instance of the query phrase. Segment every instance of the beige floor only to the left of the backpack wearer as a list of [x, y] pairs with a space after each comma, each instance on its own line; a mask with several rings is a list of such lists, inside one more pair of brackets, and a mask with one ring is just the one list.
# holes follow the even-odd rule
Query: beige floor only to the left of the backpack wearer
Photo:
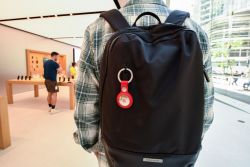
[[86, 153], [72, 138], [73, 111], [68, 110], [68, 89], [61, 89], [60, 113], [47, 112], [46, 91], [16, 95], [9, 105], [12, 146], [0, 151], [0, 167], [97, 167], [94, 155]]

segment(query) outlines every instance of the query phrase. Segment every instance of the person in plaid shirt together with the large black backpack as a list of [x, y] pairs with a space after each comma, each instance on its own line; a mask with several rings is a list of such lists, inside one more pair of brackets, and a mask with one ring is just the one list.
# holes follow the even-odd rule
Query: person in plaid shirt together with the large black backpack
[[85, 31], [76, 142], [99, 166], [192, 167], [213, 121], [206, 33], [162, 0], [120, 0]]

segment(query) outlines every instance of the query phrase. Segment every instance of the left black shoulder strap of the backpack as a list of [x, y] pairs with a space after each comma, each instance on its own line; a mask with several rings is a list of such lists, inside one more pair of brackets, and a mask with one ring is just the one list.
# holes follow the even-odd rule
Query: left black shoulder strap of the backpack
[[130, 27], [127, 20], [117, 9], [103, 12], [101, 13], [100, 17], [103, 17], [110, 24], [114, 31], [119, 31]]

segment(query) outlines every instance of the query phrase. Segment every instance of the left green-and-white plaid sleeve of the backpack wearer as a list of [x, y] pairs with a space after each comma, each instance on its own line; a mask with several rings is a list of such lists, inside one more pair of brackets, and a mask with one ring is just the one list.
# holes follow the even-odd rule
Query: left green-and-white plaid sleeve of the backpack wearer
[[82, 53], [79, 61], [79, 75], [76, 82], [76, 109], [74, 114], [77, 131], [75, 140], [87, 151], [98, 142], [100, 112], [98, 111], [98, 79], [92, 48], [90, 28], [84, 34]]

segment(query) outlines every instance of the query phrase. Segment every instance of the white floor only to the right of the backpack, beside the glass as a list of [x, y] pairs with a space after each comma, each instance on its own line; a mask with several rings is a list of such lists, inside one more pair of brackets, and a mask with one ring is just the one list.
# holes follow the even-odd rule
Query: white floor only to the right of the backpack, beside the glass
[[215, 94], [214, 122], [196, 167], [250, 166], [250, 105]]

